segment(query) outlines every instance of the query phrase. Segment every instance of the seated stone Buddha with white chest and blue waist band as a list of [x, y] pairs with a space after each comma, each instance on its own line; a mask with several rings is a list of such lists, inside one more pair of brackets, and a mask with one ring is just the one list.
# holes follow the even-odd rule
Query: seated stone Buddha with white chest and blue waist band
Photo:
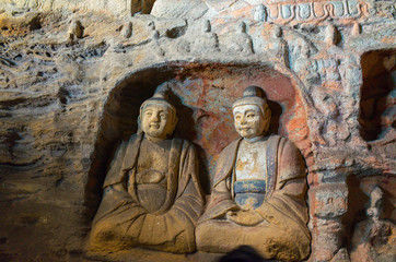
[[265, 259], [300, 261], [311, 242], [304, 159], [292, 142], [266, 135], [270, 109], [261, 88], [247, 87], [233, 115], [242, 138], [220, 154], [197, 249], [219, 253], [247, 245]]

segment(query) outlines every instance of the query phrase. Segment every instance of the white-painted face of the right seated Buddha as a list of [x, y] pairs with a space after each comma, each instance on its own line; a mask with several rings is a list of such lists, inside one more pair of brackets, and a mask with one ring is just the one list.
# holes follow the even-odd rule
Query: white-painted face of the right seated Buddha
[[258, 106], [237, 106], [233, 112], [235, 129], [242, 138], [253, 139], [264, 133], [267, 119], [263, 117]]

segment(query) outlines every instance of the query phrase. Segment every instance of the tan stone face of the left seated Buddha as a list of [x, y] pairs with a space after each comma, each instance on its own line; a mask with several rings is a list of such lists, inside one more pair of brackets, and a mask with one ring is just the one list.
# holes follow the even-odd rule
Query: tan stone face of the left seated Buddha
[[151, 104], [143, 109], [141, 129], [155, 139], [166, 139], [176, 126], [176, 117], [171, 108], [165, 105]]

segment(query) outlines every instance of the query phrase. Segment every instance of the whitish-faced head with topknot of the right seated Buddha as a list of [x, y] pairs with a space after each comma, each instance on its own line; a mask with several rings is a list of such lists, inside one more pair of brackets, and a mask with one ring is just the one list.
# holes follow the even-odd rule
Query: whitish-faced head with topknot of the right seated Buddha
[[242, 138], [253, 139], [263, 135], [269, 128], [271, 111], [264, 91], [248, 86], [241, 99], [232, 106], [234, 126]]

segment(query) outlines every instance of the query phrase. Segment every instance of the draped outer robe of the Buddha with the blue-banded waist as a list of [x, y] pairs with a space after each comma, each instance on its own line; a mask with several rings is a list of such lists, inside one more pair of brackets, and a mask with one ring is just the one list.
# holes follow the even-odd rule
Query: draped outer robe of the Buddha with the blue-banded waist
[[306, 170], [298, 148], [284, 138], [267, 138], [267, 192], [254, 210], [263, 222], [256, 226], [228, 221], [229, 211], [237, 211], [234, 202], [234, 167], [242, 139], [220, 154], [213, 189], [196, 228], [197, 248], [206, 252], [229, 252], [240, 245], [254, 247], [266, 259], [300, 261], [310, 253], [311, 236], [305, 203]]

